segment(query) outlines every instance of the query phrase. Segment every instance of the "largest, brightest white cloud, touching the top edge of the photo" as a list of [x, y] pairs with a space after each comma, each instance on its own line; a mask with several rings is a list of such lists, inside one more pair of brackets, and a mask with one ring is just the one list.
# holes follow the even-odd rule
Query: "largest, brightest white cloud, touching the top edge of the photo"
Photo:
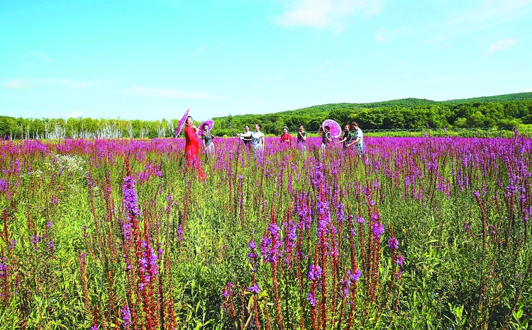
[[294, 0], [289, 9], [278, 16], [283, 26], [312, 26], [318, 30], [331, 28], [340, 33], [348, 18], [360, 14], [370, 17], [382, 9], [381, 0]]

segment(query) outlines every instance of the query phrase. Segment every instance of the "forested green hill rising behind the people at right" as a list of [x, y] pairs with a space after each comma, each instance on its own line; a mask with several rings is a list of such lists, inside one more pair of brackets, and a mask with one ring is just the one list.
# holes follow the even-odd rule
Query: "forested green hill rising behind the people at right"
[[513, 127], [532, 123], [532, 93], [514, 93], [450, 101], [422, 98], [373, 103], [329, 103], [265, 115], [235, 115], [214, 118], [218, 135], [232, 135], [234, 128], [262, 124], [262, 131], [278, 134], [283, 126], [294, 132], [299, 125], [316, 131], [325, 119], [340, 125], [357, 121], [365, 129], [410, 129], [426, 127]]

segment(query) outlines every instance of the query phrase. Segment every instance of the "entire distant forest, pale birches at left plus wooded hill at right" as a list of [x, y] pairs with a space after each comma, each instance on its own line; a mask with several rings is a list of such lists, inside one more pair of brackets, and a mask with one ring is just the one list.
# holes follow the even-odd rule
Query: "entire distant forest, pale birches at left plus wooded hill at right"
[[[376, 103], [334, 103], [265, 115], [228, 115], [214, 119], [213, 134], [234, 135], [244, 125], [253, 130], [262, 124], [262, 132], [279, 135], [282, 127], [290, 132], [304, 125], [317, 131], [323, 120], [340, 125], [356, 121], [362, 130], [432, 128], [492, 128], [532, 124], [532, 93], [431, 101], [405, 98]], [[55, 139], [65, 137], [172, 137], [179, 119], [123, 120], [92, 118], [13, 118], [0, 116], [0, 136], [11, 139]], [[196, 123], [196, 125], [199, 123]]]

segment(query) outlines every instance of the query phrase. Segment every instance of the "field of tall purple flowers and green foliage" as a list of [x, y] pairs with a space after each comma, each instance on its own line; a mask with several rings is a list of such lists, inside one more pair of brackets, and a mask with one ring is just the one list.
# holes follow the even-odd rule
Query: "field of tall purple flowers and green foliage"
[[531, 328], [531, 139], [214, 143], [0, 142], [0, 329]]

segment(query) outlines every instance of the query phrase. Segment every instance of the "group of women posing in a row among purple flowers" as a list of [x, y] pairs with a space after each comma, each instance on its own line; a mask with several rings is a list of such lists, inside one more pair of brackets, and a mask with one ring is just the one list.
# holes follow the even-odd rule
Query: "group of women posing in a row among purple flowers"
[[[196, 125], [194, 125], [194, 120], [192, 120], [191, 116], [187, 117], [187, 120], [184, 125], [185, 161], [187, 161], [187, 164], [189, 166], [194, 167], [194, 169], [198, 171], [199, 178], [201, 178], [201, 180], [204, 180], [205, 173], [201, 168], [201, 163], [198, 158], [198, 134], [201, 135], [201, 141], [203, 143], [203, 147], [205, 149], [206, 154], [206, 162], [209, 162], [209, 159], [214, 154], [213, 140], [215, 136], [212, 135], [208, 124], [204, 124], [203, 127], [196, 127]], [[262, 125], [260, 125], [260, 123], [256, 123], [255, 130], [250, 131], [250, 127], [248, 125], [245, 125], [244, 132], [236, 133], [236, 136], [240, 137], [240, 140], [242, 140], [246, 147], [253, 147], [253, 149], [255, 150], [262, 150], [265, 147], [265, 135], [260, 131], [261, 128]], [[328, 144], [333, 143], [333, 137], [331, 136], [331, 132], [329, 132], [330, 130], [331, 127], [329, 126], [322, 127], [322, 125], [320, 125], [320, 127], [318, 128], [318, 135], [321, 136], [322, 152], [325, 151], [326, 146]], [[360, 130], [360, 127], [358, 127], [358, 123], [353, 122], [351, 123], [351, 125], [345, 124], [343, 135], [341, 136], [341, 139], [338, 140], [336, 143], [343, 143], [344, 150], [354, 145], [357, 149], [358, 154], [362, 156], [362, 154], [364, 153], [363, 137], [364, 134], [362, 133], [362, 130]], [[282, 135], [280, 139], [282, 143], [286, 143], [288, 145], [292, 144], [292, 135], [289, 134], [288, 127], [282, 127]], [[299, 125], [299, 130], [297, 132], [297, 144], [301, 149], [306, 151], [306, 132], [303, 125]]]

